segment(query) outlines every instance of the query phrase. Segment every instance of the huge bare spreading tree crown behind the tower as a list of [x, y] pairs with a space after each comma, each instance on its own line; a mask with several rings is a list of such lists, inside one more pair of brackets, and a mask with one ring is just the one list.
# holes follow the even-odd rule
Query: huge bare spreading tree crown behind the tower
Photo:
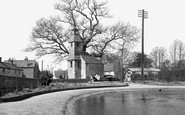
[[140, 38], [140, 30], [129, 23], [103, 25], [105, 19], [112, 18], [107, 2], [61, 0], [54, 7], [60, 15], [37, 21], [26, 52], [36, 51], [38, 57], [53, 54], [61, 61], [69, 54], [67, 41], [74, 28], [83, 43], [82, 52], [101, 59], [116, 51], [123, 56]]

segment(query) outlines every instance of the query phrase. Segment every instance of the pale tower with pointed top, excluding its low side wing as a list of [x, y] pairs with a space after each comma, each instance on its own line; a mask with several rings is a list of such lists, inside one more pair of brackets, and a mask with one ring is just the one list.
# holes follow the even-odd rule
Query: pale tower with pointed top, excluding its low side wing
[[73, 36], [69, 39], [69, 57], [68, 57], [68, 79], [81, 79], [81, 59], [82, 41], [73, 29]]

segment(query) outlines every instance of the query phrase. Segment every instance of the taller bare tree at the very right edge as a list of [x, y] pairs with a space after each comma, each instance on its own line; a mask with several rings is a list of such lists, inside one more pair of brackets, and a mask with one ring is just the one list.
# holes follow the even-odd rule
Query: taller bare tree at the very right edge
[[171, 62], [174, 67], [177, 67], [177, 63], [182, 62], [185, 58], [185, 45], [180, 40], [174, 40], [170, 46]]

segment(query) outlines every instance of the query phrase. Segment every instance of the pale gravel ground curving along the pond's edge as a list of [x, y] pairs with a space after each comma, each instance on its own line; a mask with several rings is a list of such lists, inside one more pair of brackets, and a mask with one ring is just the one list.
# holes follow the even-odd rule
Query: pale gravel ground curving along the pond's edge
[[0, 115], [71, 115], [75, 100], [93, 94], [137, 88], [185, 88], [185, 86], [155, 86], [130, 83], [128, 87], [80, 89], [35, 96], [17, 102], [0, 103]]

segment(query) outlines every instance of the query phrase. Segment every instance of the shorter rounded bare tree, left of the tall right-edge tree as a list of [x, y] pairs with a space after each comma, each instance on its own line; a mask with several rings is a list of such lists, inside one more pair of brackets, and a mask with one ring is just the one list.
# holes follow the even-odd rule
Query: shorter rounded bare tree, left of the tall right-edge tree
[[167, 50], [164, 47], [155, 47], [150, 53], [154, 67], [161, 68], [167, 57]]

